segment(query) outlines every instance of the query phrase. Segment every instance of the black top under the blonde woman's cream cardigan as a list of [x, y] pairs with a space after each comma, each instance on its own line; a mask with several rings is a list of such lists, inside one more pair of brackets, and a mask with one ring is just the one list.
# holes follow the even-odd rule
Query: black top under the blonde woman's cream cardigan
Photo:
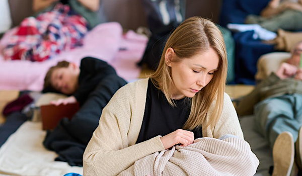
[[[177, 107], [172, 107], [164, 93], [149, 79], [143, 120], [136, 143], [183, 129], [190, 115], [191, 101], [189, 98], [183, 98], [175, 100], [175, 104]], [[202, 137], [201, 129], [192, 132], [195, 139]]]

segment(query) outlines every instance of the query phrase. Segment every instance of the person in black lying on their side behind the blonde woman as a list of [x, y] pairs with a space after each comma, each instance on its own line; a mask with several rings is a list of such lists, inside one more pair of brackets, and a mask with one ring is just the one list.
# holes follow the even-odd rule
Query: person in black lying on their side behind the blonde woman
[[126, 81], [105, 61], [93, 57], [81, 60], [80, 67], [67, 61], [51, 67], [44, 80], [44, 92], [69, 95], [52, 104], [80, 103], [80, 110], [69, 121], [62, 119], [48, 131], [44, 146], [55, 151], [58, 161], [83, 165], [83, 153], [97, 128], [103, 108]]

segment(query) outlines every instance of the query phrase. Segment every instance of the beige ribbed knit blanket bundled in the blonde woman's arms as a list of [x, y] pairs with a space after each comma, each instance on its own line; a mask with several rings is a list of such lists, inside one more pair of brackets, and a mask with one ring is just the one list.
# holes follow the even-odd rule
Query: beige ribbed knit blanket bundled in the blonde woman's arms
[[119, 176], [130, 175], [254, 175], [259, 160], [243, 139], [199, 138], [135, 161]]

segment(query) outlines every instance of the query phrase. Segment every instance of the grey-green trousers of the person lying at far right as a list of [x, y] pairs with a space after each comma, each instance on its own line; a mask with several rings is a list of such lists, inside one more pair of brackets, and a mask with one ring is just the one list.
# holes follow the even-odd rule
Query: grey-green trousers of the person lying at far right
[[284, 95], [263, 100], [255, 106], [255, 127], [269, 141], [270, 146], [279, 134], [288, 131], [297, 139], [300, 127], [293, 112], [293, 97]]

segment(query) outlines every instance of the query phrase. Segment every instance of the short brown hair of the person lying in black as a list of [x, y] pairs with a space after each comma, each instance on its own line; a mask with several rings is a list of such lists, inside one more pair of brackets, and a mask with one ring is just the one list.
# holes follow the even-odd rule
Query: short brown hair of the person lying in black
[[65, 60], [58, 62], [55, 66], [52, 66], [48, 69], [45, 78], [44, 78], [44, 85], [43, 85], [43, 93], [46, 92], [55, 92], [59, 93], [57, 90], [54, 89], [54, 87], [51, 84], [51, 75], [53, 71], [57, 68], [67, 68], [69, 66], [70, 62], [67, 62]]

